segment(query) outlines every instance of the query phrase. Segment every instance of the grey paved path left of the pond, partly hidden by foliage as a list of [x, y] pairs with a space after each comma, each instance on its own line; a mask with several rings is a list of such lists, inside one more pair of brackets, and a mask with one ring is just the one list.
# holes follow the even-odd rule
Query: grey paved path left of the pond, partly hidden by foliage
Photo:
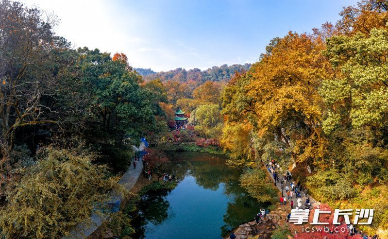
[[[144, 144], [140, 145], [140, 147], [136, 150], [142, 151], [145, 149]], [[119, 184], [123, 185], [124, 188], [130, 190], [134, 187], [139, 175], [143, 170], [143, 161], [140, 160], [136, 164], [136, 169], [131, 165], [129, 169], [124, 173], [121, 179], [118, 181]], [[112, 191], [110, 193], [110, 200], [107, 203], [115, 203], [117, 201], [121, 201], [121, 195]], [[101, 226], [102, 222], [108, 219], [109, 213], [98, 214], [93, 212], [90, 216], [90, 222], [82, 222], [76, 225], [70, 232], [67, 237], [63, 237], [62, 239], [80, 239], [87, 238], [90, 234], [92, 234], [99, 226]]]

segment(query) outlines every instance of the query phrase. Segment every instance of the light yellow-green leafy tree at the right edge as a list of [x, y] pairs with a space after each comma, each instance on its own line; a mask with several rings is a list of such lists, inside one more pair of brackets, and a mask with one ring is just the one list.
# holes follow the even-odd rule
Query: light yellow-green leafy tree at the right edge
[[370, 34], [339, 35], [327, 40], [325, 55], [337, 69], [337, 78], [323, 81], [321, 95], [329, 106], [324, 130], [350, 120], [352, 126], [382, 127], [388, 116], [388, 32], [371, 29]]

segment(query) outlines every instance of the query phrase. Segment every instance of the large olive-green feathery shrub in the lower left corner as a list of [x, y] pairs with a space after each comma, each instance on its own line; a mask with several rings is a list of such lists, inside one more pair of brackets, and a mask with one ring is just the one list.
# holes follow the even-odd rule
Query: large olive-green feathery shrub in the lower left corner
[[0, 209], [0, 238], [59, 238], [118, 187], [93, 154], [48, 147], [37, 158]]

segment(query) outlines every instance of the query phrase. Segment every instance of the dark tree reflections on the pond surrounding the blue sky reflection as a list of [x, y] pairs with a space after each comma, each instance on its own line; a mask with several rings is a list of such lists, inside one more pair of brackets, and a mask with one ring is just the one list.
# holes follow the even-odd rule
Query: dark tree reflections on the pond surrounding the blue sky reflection
[[[229, 197], [230, 202], [223, 216], [225, 225], [221, 227], [221, 236], [241, 223], [253, 220], [255, 213], [261, 208], [261, 205], [240, 187], [240, 172], [225, 166], [225, 157], [195, 152], [173, 153], [169, 156], [172, 164], [167, 172], [175, 173], [178, 181], [183, 180], [189, 171], [196, 183], [203, 188], [217, 190], [221, 183], [224, 185], [223, 193]], [[158, 225], [171, 217], [168, 214], [167, 193], [161, 191], [142, 198], [142, 202], [138, 204], [140, 219], [136, 220], [141, 222], [137, 222], [134, 238], [144, 238], [147, 222]]]

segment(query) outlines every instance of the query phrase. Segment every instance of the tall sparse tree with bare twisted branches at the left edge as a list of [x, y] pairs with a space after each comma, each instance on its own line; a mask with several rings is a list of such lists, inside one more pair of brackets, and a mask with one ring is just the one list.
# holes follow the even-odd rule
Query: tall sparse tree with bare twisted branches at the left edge
[[62, 44], [52, 33], [54, 24], [54, 18], [45, 19], [38, 9], [19, 2], [0, 3], [0, 169], [19, 128], [54, 122], [42, 119], [43, 112], [51, 109], [41, 101], [55, 87], [45, 68], [50, 51]]

